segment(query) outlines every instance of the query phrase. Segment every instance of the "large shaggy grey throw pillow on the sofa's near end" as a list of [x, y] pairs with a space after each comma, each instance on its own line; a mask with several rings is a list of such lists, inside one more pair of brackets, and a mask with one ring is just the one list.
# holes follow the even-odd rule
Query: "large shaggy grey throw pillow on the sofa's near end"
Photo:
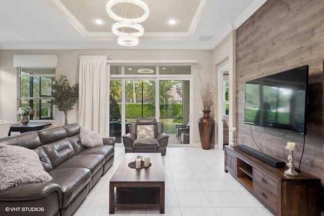
[[47, 183], [53, 179], [33, 150], [0, 145], [0, 161], [0, 191], [22, 184]]

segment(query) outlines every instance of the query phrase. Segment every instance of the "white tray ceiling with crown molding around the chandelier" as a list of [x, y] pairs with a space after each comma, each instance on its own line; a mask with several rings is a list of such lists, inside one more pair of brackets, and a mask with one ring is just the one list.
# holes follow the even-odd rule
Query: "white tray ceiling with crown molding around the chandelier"
[[[106, 12], [108, 0], [0, 1], [0, 49], [211, 50], [266, 2], [142, 1], [150, 14], [141, 23], [144, 35], [135, 47], [117, 44], [117, 37], [111, 32], [115, 21]], [[117, 6], [113, 9], [122, 10]], [[103, 24], [95, 24], [96, 19], [101, 19]], [[170, 25], [170, 19], [177, 23]]]

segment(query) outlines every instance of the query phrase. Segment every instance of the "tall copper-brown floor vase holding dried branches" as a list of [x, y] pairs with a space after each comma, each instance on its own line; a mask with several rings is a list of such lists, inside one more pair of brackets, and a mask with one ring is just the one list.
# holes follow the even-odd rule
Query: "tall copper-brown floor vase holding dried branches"
[[204, 116], [198, 120], [201, 147], [211, 149], [215, 121], [210, 117], [210, 110], [203, 110]]

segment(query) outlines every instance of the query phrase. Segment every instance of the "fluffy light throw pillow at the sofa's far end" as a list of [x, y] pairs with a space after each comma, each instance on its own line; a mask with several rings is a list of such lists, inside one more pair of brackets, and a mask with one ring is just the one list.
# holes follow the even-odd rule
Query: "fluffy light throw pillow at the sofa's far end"
[[80, 139], [81, 144], [88, 148], [103, 146], [103, 141], [99, 133], [89, 130], [84, 126], [80, 126]]

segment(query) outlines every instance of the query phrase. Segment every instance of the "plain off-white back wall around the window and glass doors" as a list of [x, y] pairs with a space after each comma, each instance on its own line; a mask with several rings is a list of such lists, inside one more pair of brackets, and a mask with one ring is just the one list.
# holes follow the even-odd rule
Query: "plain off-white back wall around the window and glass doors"
[[[0, 119], [17, 121], [17, 68], [13, 67], [15, 54], [58, 55], [56, 76], [66, 75], [71, 84], [78, 82], [79, 55], [111, 54], [113, 60], [197, 60], [193, 65], [193, 142], [200, 143], [198, 119], [202, 108], [198, 89], [200, 83], [213, 77], [213, 52], [208, 50], [0, 50]], [[52, 126], [64, 124], [63, 112], [56, 111]], [[69, 111], [68, 122], [78, 122], [76, 109]], [[190, 126], [191, 127], [191, 126]]]

